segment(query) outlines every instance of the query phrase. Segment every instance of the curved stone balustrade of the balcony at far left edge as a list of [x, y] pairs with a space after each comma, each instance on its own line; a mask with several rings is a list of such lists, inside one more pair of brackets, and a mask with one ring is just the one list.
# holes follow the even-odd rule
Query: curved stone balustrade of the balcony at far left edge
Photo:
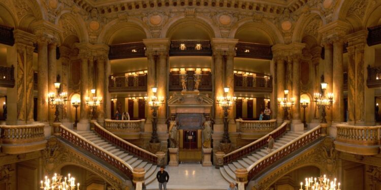
[[20, 143], [29, 141], [44, 140], [44, 124], [31, 125], [0, 125], [2, 143], [17, 144], [17, 141], [23, 140]]

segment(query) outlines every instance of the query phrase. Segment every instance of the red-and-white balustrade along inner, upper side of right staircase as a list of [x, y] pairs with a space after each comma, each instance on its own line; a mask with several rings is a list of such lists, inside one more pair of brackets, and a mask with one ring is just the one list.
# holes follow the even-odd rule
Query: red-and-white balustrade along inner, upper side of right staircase
[[256, 151], [263, 146], [267, 144], [267, 138], [271, 134], [274, 139], [278, 138], [281, 136], [284, 132], [287, 130], [287, 122], [282, 123], [278, 128], [275, 130], [271, 131], [269, 134], [261, 137], [260, 139], [251, 142], [250, 144], [247, 144], [245, 146], [242, 146], [241, 148], [238, 148], [231, 153], [228, 153], [227, 155], [224, 156], [224, 164], [230, 163], [234, 160], [237, 160], [239, 158], [242, 158], [243, 156], [246, 156], [249, 153], [252, 153], [253, 151]]

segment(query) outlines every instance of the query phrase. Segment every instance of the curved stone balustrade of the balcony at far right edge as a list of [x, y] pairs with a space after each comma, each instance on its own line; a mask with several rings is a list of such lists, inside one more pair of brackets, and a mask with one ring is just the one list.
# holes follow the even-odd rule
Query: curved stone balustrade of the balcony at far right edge
[[336, 125], [336, 140], [358, 145], [379, 145], [381, 126]]

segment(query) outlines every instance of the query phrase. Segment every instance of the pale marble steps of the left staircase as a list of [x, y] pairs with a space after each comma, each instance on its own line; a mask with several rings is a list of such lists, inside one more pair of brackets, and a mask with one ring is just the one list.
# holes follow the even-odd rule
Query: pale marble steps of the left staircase
[[132, 168], [144, 168], [146, 171], [145, 174], [145, 184], [151, 183], [153, 180], [156, 179], [156, 173], [160, 170], [156, 166], [156, 163], [149, 163], [142, 159], [139, 159], [137, 157], [134, 157], [133, 155], [126, 153], [124, 150], [119, 149], [118, 147], [114, 146], [113, 144], [109, 143], [105, 139], [98, 136], [97, 133], [93, 131], [75, 131], [77, 134], [81, 135], [82, 137], [86, 138], [87, 140], [97, 144], [98, 146], [102, 147], [109, 153], [119, 157], [124, 162], [129, 164]]

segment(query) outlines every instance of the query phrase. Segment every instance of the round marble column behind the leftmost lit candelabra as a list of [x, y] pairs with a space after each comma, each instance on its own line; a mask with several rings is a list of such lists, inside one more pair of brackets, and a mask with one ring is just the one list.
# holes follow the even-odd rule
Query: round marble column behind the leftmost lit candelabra
[[[57, 44], [51, 42], [48, 44], [48, 91], [54, 93], [56, 96], [57, 90], [54, 87], [54, 83], [57, 82], [57, 63], [56, 63], [56, 48]], [[49, 108], [49, 123], [54, 121], [55, 108]]]

